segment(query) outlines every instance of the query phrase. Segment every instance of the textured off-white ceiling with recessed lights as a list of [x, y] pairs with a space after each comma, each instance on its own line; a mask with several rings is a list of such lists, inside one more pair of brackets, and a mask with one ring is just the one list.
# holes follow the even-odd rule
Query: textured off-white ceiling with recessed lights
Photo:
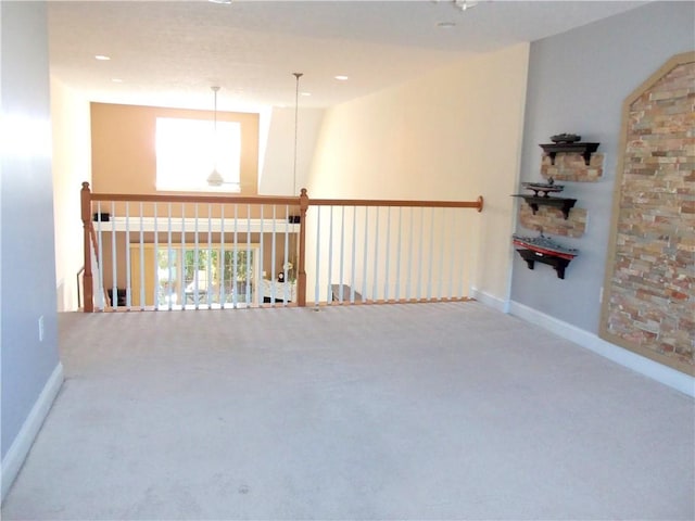
[[301, 72], [312, 96], [300, 104], [330, 106], [643, 3], [481, 1], [464, 12], [447, 0], [51, 1], [51, 74], [113, 103], [207, 109], [218, 85], [220, 110], [231, 110], [294, 106]]

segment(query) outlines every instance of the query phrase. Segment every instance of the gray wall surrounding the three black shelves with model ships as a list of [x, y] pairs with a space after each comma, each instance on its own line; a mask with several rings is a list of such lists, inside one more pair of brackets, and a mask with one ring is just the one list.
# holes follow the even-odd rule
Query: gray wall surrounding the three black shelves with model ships
[[[511, 301], [590, 332], [598, 331], [623, 100], [673, 54], [695, 49], [695, 3], [654, 2], [531, 45], [521, 180], [541, 180], [539, 143], [573, 132], [606, 155], [595, 183], [558, 181], [587, 211], [580, 250], [565, 280], [549, 266], [528, 269], [515, 255]], [[517, 226], [517, 231], [535, 234]]]

